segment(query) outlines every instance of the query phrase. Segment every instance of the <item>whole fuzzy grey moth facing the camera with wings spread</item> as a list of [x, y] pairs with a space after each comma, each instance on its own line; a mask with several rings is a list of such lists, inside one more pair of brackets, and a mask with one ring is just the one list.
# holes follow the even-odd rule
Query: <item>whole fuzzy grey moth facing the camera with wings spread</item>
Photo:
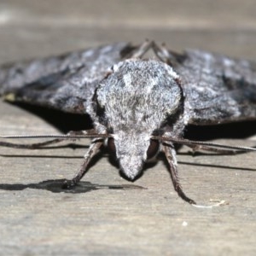
[[[148, 50], [154, 58], [143, 58]], [[6, 99], [90, 114], [94, 130], [72, 131], [31, 145], [0, 143], [36, 148], [66, 138], [92, 137], [83, 165], [66, 181], [67, 188], [79, 183], [103, 145], [115, 154], [121, 172], [130, 180], [142, 172], [145, 161], [162, 151], [177, 195], [195, 204], [178, 180], [175, 143], [213, 151], [254, 149], [183, 138], [189, 124], [255, 119], [256, 63], [252, 61], [201, 50], [178, 54], [153, 41], [139, 46], [117, 43], [4, 65], [0, 84], [0, 95]]]

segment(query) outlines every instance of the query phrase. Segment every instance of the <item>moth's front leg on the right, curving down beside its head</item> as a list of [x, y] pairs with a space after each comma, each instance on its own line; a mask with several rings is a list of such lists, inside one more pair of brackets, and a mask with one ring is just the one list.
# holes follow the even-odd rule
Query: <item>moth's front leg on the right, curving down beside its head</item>
[[196, 204], [195, 201], [190, 199], [185, 193], [183, 192], [182, 186], [179, 183], [179, 178], [177, 174], [177, 160], [176, 160], [176, 152], [175, 149], [172, 148], [171, 145], [163, 145], [163, 150], [166, 154], [166, 160], [169, 163], [170, 169], [169, 172], [172, 177], [172, 183], [174, 189], [177, 191], [177, 195], [180, 196], [183, 201], [189, 202], [189, 204]]

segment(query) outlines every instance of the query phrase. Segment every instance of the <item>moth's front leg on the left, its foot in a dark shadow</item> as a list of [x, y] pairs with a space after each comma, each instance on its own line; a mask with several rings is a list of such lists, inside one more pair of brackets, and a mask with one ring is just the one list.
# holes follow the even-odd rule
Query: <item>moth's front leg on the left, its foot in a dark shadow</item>
[[64, 181], [63, 189], [71, 189], [72, 187], [76, 186], [80, 179], [84, 176], [85, 172], [87, 171], [87, 166], [90, 163], [90, 160], [96, 155], [98, 149], [102, 147], [102, 141], [97, 141], [95, 143], [90, 144], [90, 148], [86, 154], [84, 154], [84, 162], [79, 169], [79, 172], [73, 177], [71, 181]]

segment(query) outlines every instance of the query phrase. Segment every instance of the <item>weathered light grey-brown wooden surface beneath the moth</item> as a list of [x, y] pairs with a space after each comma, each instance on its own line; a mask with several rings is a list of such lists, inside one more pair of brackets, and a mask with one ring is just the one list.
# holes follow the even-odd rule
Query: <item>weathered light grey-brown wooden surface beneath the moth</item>
[[[255, 13], [253, 0], [2, 0], [0, 61], [145, 38], [175, 50], [200, 48], [256, 60]], [[0, 133], [52, 133], [75, 123], [60, 113], [30, 110], [38, 115], [0, 102]], [[248, 126], [253, 131], [255, 123], [239, 126], [234, 139], [220, 139], [238, 129], [231, 125], [217, 141], [253, 146], [253, 137], [237, 138], [253, 135]], [[255, 154], [191, 157], [182, 148], [178, 168], [187, 195], [203, 205], [225, 201], [209, 209], [177, 197], [161, 158], [129, 183], [103, 154], [79, 189], [61, 190], [61, 179], [79, 168], [88, 142], [83, 144], [0, 148], [1, 255], [256, 255]]]

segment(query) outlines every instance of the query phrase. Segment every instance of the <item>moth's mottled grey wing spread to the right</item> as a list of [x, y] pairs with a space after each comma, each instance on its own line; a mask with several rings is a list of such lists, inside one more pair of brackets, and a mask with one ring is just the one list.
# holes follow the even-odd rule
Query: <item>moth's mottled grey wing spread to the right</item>
[[256, 62], [201, 50], [170, 54], [172, 66], [181, 76], [189, 124], [256, 119]]

